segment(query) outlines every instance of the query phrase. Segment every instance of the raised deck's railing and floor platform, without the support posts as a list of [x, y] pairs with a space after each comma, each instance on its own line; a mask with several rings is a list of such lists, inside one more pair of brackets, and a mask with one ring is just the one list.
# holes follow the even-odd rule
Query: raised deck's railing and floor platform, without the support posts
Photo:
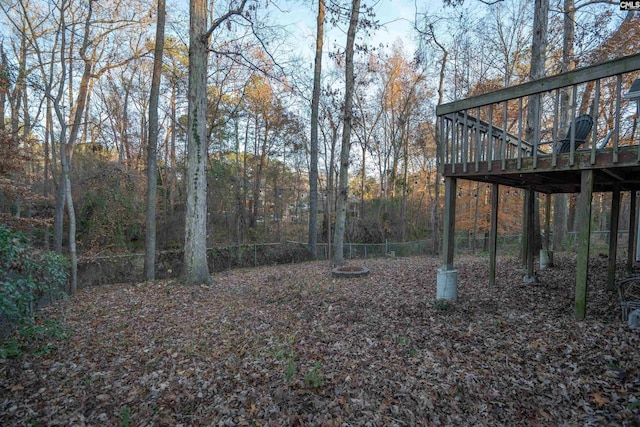
[[[637, 78], [640, 54], [440, 105], [441, 172], [555, 193], [579, 191], [578, 172], [594, 169], [597, 191], [607, 191], [616, 181], [638, 189], [632, 182], [640, 165], [640, 131], [634, 123], [638, 104], [624, 96]], [[558, 154], [553, 142], [565, 137], [568, 127], [559, 119], [564, 91], [573, 94], [568, 122], [589, 114], [594, 126], [586, 144]], [[534, 103], [540, 112], [529, 120], [526, 110]], [[598, 149], [608, 135], [606, 148]]]

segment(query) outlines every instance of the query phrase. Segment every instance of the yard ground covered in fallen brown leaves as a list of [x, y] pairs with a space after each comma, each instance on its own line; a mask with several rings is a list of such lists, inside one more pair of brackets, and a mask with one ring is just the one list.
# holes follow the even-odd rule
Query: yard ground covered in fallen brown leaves
[[[558, 259], [559, 258], [559, 259]], [[635, 425], [640, 334], [591, 263], [525, 285], [520, 262], [461, 257], [459, 301], [435, 301], [435, 258], [325, 262], [82, 290], [50, 307], [69, 338], [0, 360], [8, 425]], [[622, 273], [620, 273], [622, 274]]]

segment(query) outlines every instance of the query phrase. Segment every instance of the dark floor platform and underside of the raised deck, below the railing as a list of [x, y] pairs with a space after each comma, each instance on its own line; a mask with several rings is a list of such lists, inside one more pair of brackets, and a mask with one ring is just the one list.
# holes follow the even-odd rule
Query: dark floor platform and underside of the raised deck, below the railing
[[[539, 155], [534, 168], [534, 159], [521, 159], [520, 167], [516, 159], [504, 162], [457, 163], [444, 165], [444, 176], [533, 189], [540, 193], [578, 193], [583, 170], [594, 171], [594, 191], [613, 191], [616, 185], [621, 191], [640, 191], [640, 160], [638, 146], [620, 147], [618, 158], [612, 150], [595, 153], [592, 162], [591, 151], [576, 151], [573, 165], [569, 153], [557, 155], [553, 165], [551, 155]], [[503, 167], [504, 166], [504, 167]]]

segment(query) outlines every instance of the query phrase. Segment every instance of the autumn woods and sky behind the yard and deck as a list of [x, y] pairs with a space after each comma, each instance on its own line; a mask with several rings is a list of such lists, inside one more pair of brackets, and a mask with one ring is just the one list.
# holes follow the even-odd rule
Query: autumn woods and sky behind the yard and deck
[[[0, 1], [0, 214], [45, 248], [72, 257], [144, 248], [160, 3], [164, 8], [164, 1], [151, 0]], [[435, 106], [530, 79], [533, 2], [445, 3], [418, 5], [404, 41], [379, 45], [371, 40], [389, 17], [375, 5], [359, 7], [346, 241], [431, 239], [437, 250], [442, 183]], [[640, 19], [621, 12], [619, 2], [545, 3], [546, 75], [638, 51]], [[325, 7], [322, 0], [304, 4], [310, 22], [319, 4]], [[318, 241], [333, 239], [346, 66], [343, 36], [334, 35], [346, 32], [353, 5], [326, 2], [324, 62], [315, 79], [307, 51], [316, 40], [287, 25], [287, 10], [300, 3], [228, 1], [207, 11], [208, 247], [306, 241], [311, 227]], [[153, 174], [159, 250], [185, 245], [190, 122], [183, 8], [170, 1], [160, 14], [167, 30]], [[318, 185], [312, 194], [314, 80]], [[634, 129], [636, 120], [629, 121]], [[458, 232], [484, 236], [488, 187], [463, 182], [457, 196]], [[608, 228], [609, 198], [596, 196], [595, 230]], [[501, 188], [501, 199], [499, 232], [521, 232], [522, 192]], [[574, 206], [572, 196], [556, 200], [555, 233], [572, 230]], [[621, 229], [628, 209], [625, 197]], [[318, 215], [312, 225], [311, 213]]]

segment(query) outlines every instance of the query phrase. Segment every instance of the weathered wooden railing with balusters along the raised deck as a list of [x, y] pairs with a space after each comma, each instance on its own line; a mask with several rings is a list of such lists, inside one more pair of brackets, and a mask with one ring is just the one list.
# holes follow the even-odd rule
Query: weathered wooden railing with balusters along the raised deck
[[[638, 145], [639, 100], [628, 93], [638, 78], [640, 54], [440, 105], [440, 164], [453, 164], [455, 174], [477, 172], [481, 162], [488, 171], [504, 170], [508, 162], [521, 169], [523, 159], [532, 158], [526, 168], [535, 169], [541, 156], [550, 156], [555, 167], [556, 142], [565, 136], [571, 140], [569, 166], [585, 150], [592, 165], [598, 150], [610, 150], [615, 164], [621, 147]], [[562, 97], [568, 97], [568, 111], [561, 111]], [[538, 106], [537, 113], [530, 105]], [[567, 128], [580, 114], [589, 114], [593, 127], [576, 148], [575, 130], [567, 135]]]

